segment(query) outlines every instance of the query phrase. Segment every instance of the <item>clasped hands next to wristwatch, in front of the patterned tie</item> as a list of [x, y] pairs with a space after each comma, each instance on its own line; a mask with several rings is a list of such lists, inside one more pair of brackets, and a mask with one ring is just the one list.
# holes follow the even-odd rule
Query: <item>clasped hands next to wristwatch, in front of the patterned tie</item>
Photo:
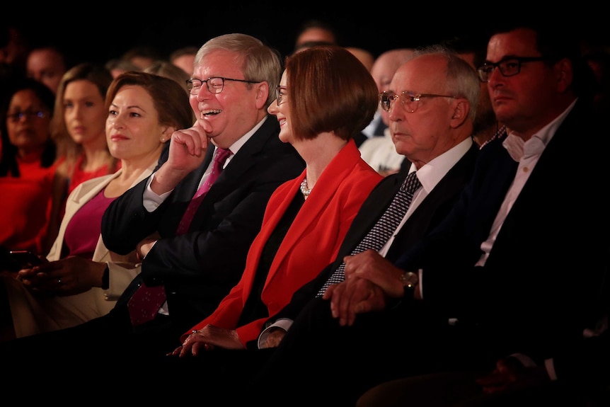
[[374, 250], [345, 256], [345, 280], [323, 295], [341, 326], [351, 326], [357, 314], [386, 308], [388, 298], [403, 295], [402, 270]]

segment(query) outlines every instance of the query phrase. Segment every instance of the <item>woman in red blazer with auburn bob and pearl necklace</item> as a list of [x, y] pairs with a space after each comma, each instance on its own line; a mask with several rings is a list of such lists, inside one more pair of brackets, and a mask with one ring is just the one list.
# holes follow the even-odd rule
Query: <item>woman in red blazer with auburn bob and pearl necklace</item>
[[286, 60], [268, 111], [280, 139], [306, 169], [273, 193], [241, 280], [206, 319], [184, 333], [173, 355], [242, 349], [268, 316], [338, 254], [355, 214], [379, 183], [353, 140], [377, 108], [369, 71], [342, 47], [315, 47]]

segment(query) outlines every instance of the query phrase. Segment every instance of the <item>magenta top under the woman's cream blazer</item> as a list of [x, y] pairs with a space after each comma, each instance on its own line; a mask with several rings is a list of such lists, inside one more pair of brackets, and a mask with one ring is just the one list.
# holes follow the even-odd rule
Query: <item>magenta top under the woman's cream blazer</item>
[[104, 190], [91, 198], [79, 209], [66, 228], [64, 243], [68, 256], [81, 256], [91, 260], [96, 250], [102, 228], [102, 216], [116, 198], [104, 196]]

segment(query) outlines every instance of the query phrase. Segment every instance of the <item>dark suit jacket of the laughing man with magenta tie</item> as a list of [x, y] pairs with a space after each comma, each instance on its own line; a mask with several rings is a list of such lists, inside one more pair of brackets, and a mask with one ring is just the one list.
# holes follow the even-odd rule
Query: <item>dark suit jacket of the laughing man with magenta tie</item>
[[[213, 149], [154, 212], [142, 204], [144, 180], [117, 198], [103, 216], [104, 243], [117, 253], [128, 253], [144, 237], [159, 232], [161, 239], [144, 259], [139, 277], [149, 286], [165, 285], [171, 316], [180, 316], [187, 327], [214, 311], [238, 282], [267, 200], [275, 188], [304, 170], [297, 151], [278, 138], [279, 129], [275, 117], [267, 117], [212, 185], [187, 234], [175, 236], [175, 231]], [[159, 166], [166, 160], [164, 154]], [[128, 287], [123, 299], [135, 288]]]

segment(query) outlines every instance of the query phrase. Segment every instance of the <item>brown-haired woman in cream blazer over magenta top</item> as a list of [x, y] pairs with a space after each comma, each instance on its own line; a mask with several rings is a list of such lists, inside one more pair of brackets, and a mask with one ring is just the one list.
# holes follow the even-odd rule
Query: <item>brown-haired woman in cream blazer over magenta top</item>
[[179, 84], [144, 72], [117, 76], [105, 106], [105, 138], [121, 168], [84, 181], [69, 195], [59, 235], [41, 265], [0, 280], [13, 320], [0, 326], [4, 338], [105, 315], [139, 273], [135, 251], [119, 255], [105, 247], [101, 218], [110, 202], [152, 173], [171, 134], [191, 126], [191, 109]]

